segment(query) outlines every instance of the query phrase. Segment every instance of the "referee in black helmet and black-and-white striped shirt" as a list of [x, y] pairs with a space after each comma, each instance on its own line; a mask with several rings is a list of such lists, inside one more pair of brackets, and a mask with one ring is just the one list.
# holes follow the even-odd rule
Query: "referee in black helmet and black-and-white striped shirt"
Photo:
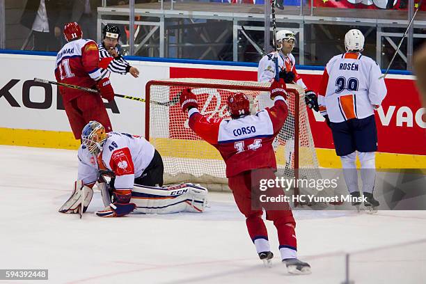
[[110, 72], [126, 74], [130, 73], [133, 77], [139, 77], [139, 70], [130, 66], [130, 64], [118, 53], [118, 39], [120, 38], [120, 29], [113, 24], [107, 24], [102, 30], [104, 39], [98, 45], [100, 57], [101, 76], [109, 77]]

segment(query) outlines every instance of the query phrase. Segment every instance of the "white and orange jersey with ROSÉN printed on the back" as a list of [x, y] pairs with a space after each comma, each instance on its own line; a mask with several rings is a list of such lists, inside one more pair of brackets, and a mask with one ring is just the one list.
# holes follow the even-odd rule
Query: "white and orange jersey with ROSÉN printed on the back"
[[331, 58], [322, 74], [318, 104], [333, 123], [374, 114], [386, 97], [379, 65], [368, 56], [347, 52]]

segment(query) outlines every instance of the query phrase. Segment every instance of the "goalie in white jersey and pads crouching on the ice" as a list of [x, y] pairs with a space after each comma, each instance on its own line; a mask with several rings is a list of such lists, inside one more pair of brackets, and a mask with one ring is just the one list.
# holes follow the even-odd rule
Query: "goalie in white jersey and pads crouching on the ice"
[[[142, 213], [203, 212], [207, 189], [194, 184], [163, 188], [163, 161], [159, 152], [143, 137], [106, 133], [100, 123], [90, 121], [81, 138], [78, 180], [74, 183], [72, 196], [59, 212], [77, 213], [81, 202], [86, 211], [97, 181], [106, 206], [96, 212], [97, 216], [124, 216], [136, 207]], [[100, 171], [109, 173], [111, 184], [107, 184]]]

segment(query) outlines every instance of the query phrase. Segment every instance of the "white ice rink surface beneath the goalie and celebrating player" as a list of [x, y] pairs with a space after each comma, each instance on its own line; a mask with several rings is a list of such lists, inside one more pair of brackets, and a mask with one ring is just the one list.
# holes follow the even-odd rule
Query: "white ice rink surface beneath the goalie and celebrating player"
[[[77, 151], [0, 145], [0, 269], [49, 269], [36, 283], [426, 283], [426, 212], [296, 211], [299, 258], [287, 274], [267, 222], [273, 266], [263, 267], [231, 194], [210, 193], [203, 214], [103, 219], [95, 191], [79, 219], [58, 208], [77, 178]], [[31, 283], [31, 281], [0, 281]]]

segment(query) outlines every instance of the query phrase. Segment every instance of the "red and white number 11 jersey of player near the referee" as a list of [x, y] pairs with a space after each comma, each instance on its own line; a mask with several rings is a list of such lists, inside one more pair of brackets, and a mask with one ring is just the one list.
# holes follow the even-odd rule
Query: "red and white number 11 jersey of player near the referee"
[[[72, 40], [62, 47], [56, 56], [56, 81], [87, 88], [100, 79], [99, 51], [93, 40]], [[81, 90], [61, 88], [63, 99], [70, 101], [81, 95]]]

